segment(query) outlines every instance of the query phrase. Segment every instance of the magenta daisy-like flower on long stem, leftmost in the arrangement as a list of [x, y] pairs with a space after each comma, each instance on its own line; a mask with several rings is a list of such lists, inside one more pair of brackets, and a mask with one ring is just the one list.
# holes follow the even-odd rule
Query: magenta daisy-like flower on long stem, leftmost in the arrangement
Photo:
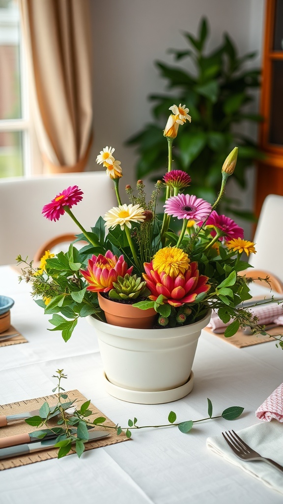
[[72, 208], [73, 205], [77, 205], [79, 201], [83, 199], [83, 191], [81, 191], [78, 185], [70, 185], [67, 189], [64, 189], [61, 193], [51, 201], [44, 205], [42, 213], [45, 215], [46, 219], [49, 220], [59, 220], [60, 216], [65, 213], [64, 207]]

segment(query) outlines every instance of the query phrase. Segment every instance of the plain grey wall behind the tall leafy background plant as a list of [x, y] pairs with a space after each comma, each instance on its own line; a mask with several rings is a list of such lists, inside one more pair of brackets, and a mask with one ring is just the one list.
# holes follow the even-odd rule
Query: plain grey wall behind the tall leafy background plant
[[[123, 181], [132, 183], [136, 157], [124, 142], [151, 119], [148, 96], [165, 86], [154, 61], [173, 63], [168, 48], [183, 49], [182, 32], [196, 33], [205, 15], [209, 49], [227, 31], [240, 54], [258, 51], [252, 64], [260, 65], [264, 0], [91, 0], [91, 8], [95, 116], [91, 167], [96, 166], [99, 151], [111, 145], [121, 161]], [[252, 133], [256, 137], [256, 130]], [[244, 205], [252, 206], [253, 184], [251, 170], [248, 191], [239, 194]]]

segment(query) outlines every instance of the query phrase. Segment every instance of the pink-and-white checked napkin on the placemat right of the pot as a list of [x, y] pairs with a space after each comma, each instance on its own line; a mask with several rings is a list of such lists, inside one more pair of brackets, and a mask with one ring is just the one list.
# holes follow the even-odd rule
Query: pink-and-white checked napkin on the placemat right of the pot
[[[253, 313], [253, 315], [256, 315], [258, 318], [258, 324], [259, 325], [265, 325], [265, 324], [278, 324], [281, 325], [283, 324], [283, 306], [282, 304], [277, 304], [277, 303], [268, 303], [264, 305], [258, 305], [254, 306], [253, 308], [249, 308], [250, 311]], [[213, 311], [211, 314], [211, 319], [208, 324], [208, 328], [214, 330], [217, 329], [222, 329], [223, 332], [225, 331], [226, 327], [228, 327], [233, 320], [228, 324], [224, 324], [222, 320], [218, 317], [218, 314], [216, 311]]]

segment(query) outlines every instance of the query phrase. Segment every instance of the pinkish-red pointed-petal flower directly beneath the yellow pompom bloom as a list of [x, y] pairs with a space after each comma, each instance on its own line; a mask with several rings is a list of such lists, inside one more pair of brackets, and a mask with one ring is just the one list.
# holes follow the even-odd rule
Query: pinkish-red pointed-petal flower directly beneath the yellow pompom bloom
[[208, 277], [199, 275], [196, 261], [188, 265], [184, 274], [179, 273], [175, 278], [170, 277], [164, 271], [160, 274], [157, 273], [153, 269], [152, 262], [145, 263], [144, 268], [146, 273], [143, 273], [143, 277], [152, 293], [149, 296], [152, 301], [156, 301], [158, 296], [162, 294], [165, 303], [178, 307], [185, 303], [193, 303], [198, 294], [210, 289], [210, 285], [207, 284]]

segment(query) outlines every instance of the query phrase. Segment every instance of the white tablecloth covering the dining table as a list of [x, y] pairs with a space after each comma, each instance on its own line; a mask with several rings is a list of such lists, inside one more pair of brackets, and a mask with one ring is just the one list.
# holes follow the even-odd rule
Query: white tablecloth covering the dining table
[[52, 375], [68, 375], [64, 386], [78, 389], [115, 423], [126, 426], [167, 423], [207, 417], [207, 398], [219, 415], [229, 406], [243, 406], [243, 415], [195, 424], [182, 434], [176, 427], [132, 430], [132, 440], [91, 450], [81, 459], [70, 455], [0, 472], [0, 504], [276, 504], [282, 495], [208, 451], [206, 438], [223, 430], [243, 429], [259, 420], [255, 410], [283, 382], [283, 352], [274, 342], [236, 348], [205, 331], [193, 364], [194, 387], [182, 400], [138, 405], [109, 396], [103, 388], [102, 363], [94, 330], [80, 320], [65, 343], [43, 310], [18, 283], [10, 267], [0, 268], [0, 293], [15, 300], [12, 324], [28, 343], [0, 348], [0, 403], [52, 394]]

